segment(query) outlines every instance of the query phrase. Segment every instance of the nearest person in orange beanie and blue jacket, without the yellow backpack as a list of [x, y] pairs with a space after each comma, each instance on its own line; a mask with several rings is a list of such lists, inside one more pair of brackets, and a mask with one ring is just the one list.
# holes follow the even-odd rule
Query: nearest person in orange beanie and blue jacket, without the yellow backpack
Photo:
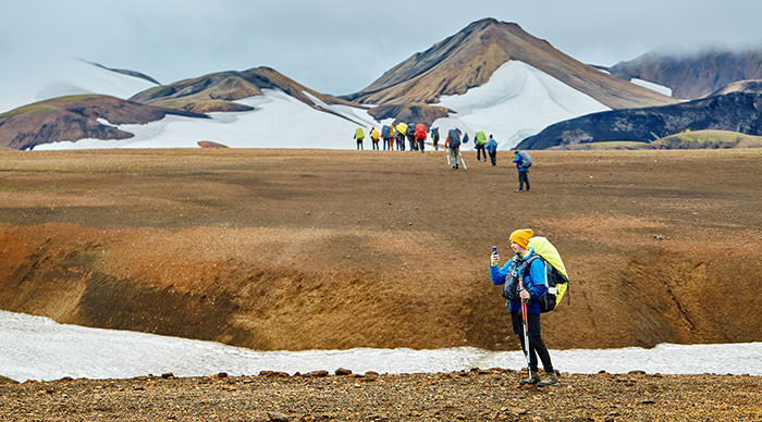
[[[558, 377], [553, 369], [548, 348], [542, 342], [540, 327], [541, 303], [539, 298], [548, 291], [545, 285], [548, 263], [536, 255], [533, 248], [528, 248], [532, 235], [533, 232], [529, 228], [517, 229], [511, 234], [508, 240], [514, 257], [502, 269], [497, 266], [500, 255], [493, 248], [490, 258], [490, 277], [495, 286], [504, 285], [503, 296], [507, 299], [511, 324], [514, 334], [518, 335], [521, 349], [527, 355], [529, 380], [521, 380], [519, 384], [537, 384], [543, 387], [557, 383]], [[525, 302], [524, 306], [521, 301]], [[526, 333], [524, 331], [525, 315], [521, 314], [523, 308], [526, 309], [526, 323], [529, 327]], [[529, 345], [525, 344], [525, 336]], [[548, 375], [545, 382], [540, 382], [540, 375], [537, 371], [538, 355]]]

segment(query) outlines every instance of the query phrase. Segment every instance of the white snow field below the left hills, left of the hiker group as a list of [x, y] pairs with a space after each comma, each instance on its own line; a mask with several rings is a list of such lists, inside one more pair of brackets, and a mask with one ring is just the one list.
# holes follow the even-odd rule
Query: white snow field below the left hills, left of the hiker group
[[[168, 115], [145, 125], [120, 125], [134, 134], [128, 139], [79, 139], [76, 142], [44, 144], [35, 150], [99, 148], [198, 148], [199, 140], [212, 140], [232, 148], [317, 148], [354, 149], [353, 136], [358, 123], [367, 129], [378, 123], [364, 109], [324, 105], [346, 116], [315, 110], [280, 89], [263, 89], [263, 95], [236, 102], [254, 111], [209, 113], [211, 119]], [[314, 101], [318, 102], [317, 99]], [[355, 123], [357, 122], [357, 123]], [[371, 148], [366, 139], [366, 148]]]

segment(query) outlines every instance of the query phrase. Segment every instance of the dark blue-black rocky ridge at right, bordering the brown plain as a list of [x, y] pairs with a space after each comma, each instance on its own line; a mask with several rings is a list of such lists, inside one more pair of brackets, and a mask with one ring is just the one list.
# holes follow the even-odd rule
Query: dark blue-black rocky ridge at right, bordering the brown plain
[[570, 148], [604, 141], [649, 142], [683, 131], [762, 135], [762, 95], [732, 92], [671, 105], [612, 110], [548, 126], [518, 149]]

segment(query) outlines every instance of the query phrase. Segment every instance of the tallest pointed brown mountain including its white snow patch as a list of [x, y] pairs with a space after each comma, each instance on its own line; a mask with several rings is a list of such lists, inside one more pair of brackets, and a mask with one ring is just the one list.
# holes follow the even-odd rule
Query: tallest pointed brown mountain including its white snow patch
[[675, 102], [583, 64], [515, 23], [493, 18], [471, 23], [343, 98], [386, 107], [383, 113], [371, 109], [379, 119], [401, 119], [390, 104], [443, 107], [451, 111], [446, 117], [423, 123], [494, 134], [501, 149], [563, 120]]

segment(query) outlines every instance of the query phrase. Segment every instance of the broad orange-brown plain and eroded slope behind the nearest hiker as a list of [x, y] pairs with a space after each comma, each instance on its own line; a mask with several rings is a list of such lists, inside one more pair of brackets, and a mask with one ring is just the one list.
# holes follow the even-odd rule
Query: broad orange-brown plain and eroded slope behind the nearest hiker
[[[490, 248], [572, 277], [551, 348], [759, 342], [760, 150], [0, 151], [0, 308], [259, 349], [515, 349]], [[507, 338], [507, 339], [506, 339]]]

